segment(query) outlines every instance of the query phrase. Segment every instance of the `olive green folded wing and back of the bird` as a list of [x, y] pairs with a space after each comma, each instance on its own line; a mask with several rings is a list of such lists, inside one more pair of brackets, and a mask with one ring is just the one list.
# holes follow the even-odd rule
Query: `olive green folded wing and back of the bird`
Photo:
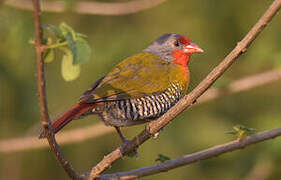
[[87, 93], [83, 102], [94, 103], [143, 97], [166, 90], [172, 81], [170, 64], [150, 53], [139, 53], [118, 64]]

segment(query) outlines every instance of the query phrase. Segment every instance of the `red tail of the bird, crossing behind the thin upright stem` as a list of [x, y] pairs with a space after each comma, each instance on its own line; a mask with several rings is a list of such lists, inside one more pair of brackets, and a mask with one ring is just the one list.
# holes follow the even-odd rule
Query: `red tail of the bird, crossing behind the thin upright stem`
[[[67, 125], [70, 121], [72, 121], [75, 118], [78, 118], [84, 112], [90, 110], [91, 108], [93, 108], [93, 104], [80, 103], [80, 104], [74, 106], [71, 110], [63, 113], [59, 118], [57, 118], [52, 123], [52, 129], [53, 129], [54, 133], [57, 133], [65, 125]], [[47, 134], [45, 132], [42, 132], [40, 134], [39, 138], [45, 138], [46, 135]]]

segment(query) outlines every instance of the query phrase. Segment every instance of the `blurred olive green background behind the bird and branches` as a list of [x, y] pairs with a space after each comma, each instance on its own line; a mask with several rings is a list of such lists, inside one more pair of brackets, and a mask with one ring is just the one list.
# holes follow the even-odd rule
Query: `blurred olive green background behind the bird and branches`
[[[51, 117], [55, 118], [73, 106], [91, 83], [122, 59], [139, 52], [167, 32], [185, 34], [205, 50], [205, 53], [192, 57], [192, 89], [234, 48], [271, 2], [170, 0], [158, 7], [122, 16], [43, 13], [44, 24], [66, 22], [77, 32], [86, 34], [92, 48], [91, 60], [82, 64], [80, 77], [75, 81], [65, 82], [62, 79], [59, 59], [46, 65]], [[222, 79], [235, 80], [280, 68], [280, 32], [279, 13]], [[39, 127], [35, 53], [28, 43], [33, 35], [31, 11], [0, 4], [0, 140], [24, 137], [34, 131], [34, 127]], [[72, 122], [65, 129], [98, 122], [96, 116], [91, 116]], [[233, 140], [235, 137], [225, 134], [225, 131], [236, 124], [258, 131], [280, 127], [280, 81], [220, 97], [185, 111], [160, 133], [158, 139], [149, 140], [141, 146], [139, 158], [124, 157], [106, 173], [155, 164], [159, 153], [176, 158]], [[127, 137], [133, 137], [143, 127], [140, 125], [123, 131]], [[39, 129], [31, 134], [36, 133]], [[119, 137], [111, 133], [63, 145], [62, 150], [77, 171], [85, 172], [119, 145]], [[280, 162], [281, 139], [277, 138], [143, 179], [253, 179], [251, 174], [261, 173], [258, 178], [277, 180], [281, 177]], [[50, 150], [45, 148], [0, 154], [0, 179], [47, 180], [67, 179], [67, 176]]]

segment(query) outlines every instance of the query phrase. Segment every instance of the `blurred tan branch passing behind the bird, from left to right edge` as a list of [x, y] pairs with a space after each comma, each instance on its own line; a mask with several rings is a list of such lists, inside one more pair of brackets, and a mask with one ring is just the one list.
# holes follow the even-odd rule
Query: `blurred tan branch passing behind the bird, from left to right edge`
[[[223, 95], [234, 94], [241, 91], [247, 91], [253, 88], [263, 86], [281, 79], [281, 69], [257, 73], [251, 76], [233, 81], [224, 89], [212, 88], [204, 93], [196, 105], [219, 98]], [[66, 130], [56, 135], [56, 139], [60, 145], [71, 144], [85, 141], [90, 138], [100, 137], [104, 134], [113, 132], [114, 129], [104, 126], [103, 123]], [[0, 153], [14, 153], [20, 151], [28, 151], [32, 149], [40, 149], [48, 147], [45, 141], [38, 141], [37, 136], [13, 138], [0, 141]]]

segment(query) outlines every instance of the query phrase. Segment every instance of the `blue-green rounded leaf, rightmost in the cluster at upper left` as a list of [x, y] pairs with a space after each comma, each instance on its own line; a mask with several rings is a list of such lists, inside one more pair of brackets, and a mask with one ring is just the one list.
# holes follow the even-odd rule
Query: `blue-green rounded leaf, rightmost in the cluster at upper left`
[[74, 58], [73, 64], [80, 64], [90, 59], [91, 48], [85, 39], [77, 38], [76, 42], [76, 58]]

